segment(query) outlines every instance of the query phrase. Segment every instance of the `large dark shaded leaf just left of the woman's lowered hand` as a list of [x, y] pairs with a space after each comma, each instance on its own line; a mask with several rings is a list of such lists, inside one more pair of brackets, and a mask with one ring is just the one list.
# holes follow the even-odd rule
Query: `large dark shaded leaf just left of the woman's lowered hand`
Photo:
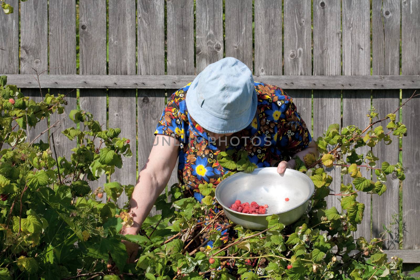
[[126, 246], [121, 243], [121, 240], [109, 236], [108, 238], [101, 237], [100, 241], [93, 243], [87, 251], [89, 256], [103, 259], [105, 262], [108, 262], [110, 253], [118, 269], [124, 270], [128, 256]]

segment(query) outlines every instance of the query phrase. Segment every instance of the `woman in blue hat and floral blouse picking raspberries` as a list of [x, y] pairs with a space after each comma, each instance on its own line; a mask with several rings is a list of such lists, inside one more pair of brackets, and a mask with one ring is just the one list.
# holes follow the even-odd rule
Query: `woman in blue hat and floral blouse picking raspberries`
[[[198, 200], [200, 183], [217, 187], [229, 170], [217, 155], [229, 149], [247, 151], [257, 167], [294, 168], [315, 143], [291, 98], [277, 86], [256, 83], [249, 68], [223, 58], [168, 98], [155, 131], [155, 145], [140, 171], [130, 201], [134, 225], [123, 234], [137, 234], [169, 181], [178, 160], [178, 178]], [[138, 246], [124, 241], [133, 261]]]

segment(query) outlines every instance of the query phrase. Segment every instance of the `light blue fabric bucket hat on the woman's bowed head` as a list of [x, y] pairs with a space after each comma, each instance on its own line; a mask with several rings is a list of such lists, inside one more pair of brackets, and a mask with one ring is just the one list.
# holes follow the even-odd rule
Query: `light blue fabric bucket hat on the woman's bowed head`
[[252, 72], [236, 58], [223, 58], [195, 77], [185, 102], [192, 118], [208, 131], [240, 131], [252, 122], [257, 110]]

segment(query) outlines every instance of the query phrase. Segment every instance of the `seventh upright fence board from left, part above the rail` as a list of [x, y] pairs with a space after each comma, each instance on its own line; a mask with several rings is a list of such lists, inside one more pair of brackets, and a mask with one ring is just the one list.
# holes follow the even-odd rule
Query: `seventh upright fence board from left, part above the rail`
[[194, 2], [191, 0], [167, 0], [166, 10], [168, 74], [193, 75]]

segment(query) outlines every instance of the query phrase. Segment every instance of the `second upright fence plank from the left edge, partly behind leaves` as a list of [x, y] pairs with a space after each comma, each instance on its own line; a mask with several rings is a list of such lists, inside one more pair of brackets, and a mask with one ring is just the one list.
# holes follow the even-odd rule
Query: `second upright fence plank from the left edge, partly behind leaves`
[[[37, 84], [36, 72], [47, 74], [47, 0], [29, 1], [21, 3], [21, 73], [32, 74], [29, 81]], [[16, 9], [17, 10], [17, 9]], [[35, 69], [35, 70], [34, 70]], [[10, 84], [10, 83], [9, 83]], [[39, 89], [21, 89], [25, 96], [33, 100], [42, 101]], [[44, 90], [43, 96], [47, 91]], [[28, 133], [28, 140], [32, 141], [42, 131], [48, 128], [47, 120], [41, 120], [37, 126], [31, 128]], [[40, 136], [40, 140], [47, 142], [48, 133]]]

